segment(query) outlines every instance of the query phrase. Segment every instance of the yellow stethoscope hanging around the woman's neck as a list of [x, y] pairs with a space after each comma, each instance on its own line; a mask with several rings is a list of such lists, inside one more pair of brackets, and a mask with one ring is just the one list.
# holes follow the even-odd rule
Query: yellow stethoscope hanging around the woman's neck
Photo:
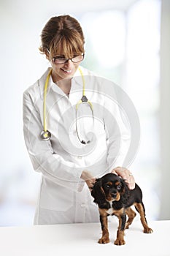
[[[45, 80], [45, 88], [44, 88], [44, 102], [43, 102], [43, 122], [44, 122], [43, 126], [44, 126], [44, 129], [43, 129], [43, 131], [41, 132], [40, 135], [41, 135], [42, 140], [45, 140], [45, 141], [50, 140], [50, 138], [51, 138], [51, 133], [47, 130], [46, 99], [47, 99], [47, 86], [48, 86], [48, 83], [49, 83], [49, 79], [50, 79], [50, 75], [52, 73], [52, 70], [53, 69], [50, 69], [50, 72], [48, 72], [47, 78]], [[80, 141], [80, 143], [88, 144], [88, 143], [91, 142], [91, 140], [81, 140], [80, 139], [80, 134], [79, 134], [78, 127], [77, 127], [77, 114], [78, 114], [78, 109], [80, 108], [80, 105], [82, 103], [88, 104], [88, 106], [90, 107], [91, 113], [92, 113], [93, 124], [94, 124], [93, 105], [90, 102], [90, 100], [88, 100], [88, 98], [85, 96], [85, 78], [84, 78], [84, 75], [83, 75], [82, 70], [80, 69], [80, 67], [79, 67], [79, 71], [80, 71], [80, 74], [82, 76], [83, 86], [82, 86], [82, 98], [80, 99], [79, 102], [77, 102], [77, 105], [76, 105], [76, 134], [77, 134], [77, 138]]]

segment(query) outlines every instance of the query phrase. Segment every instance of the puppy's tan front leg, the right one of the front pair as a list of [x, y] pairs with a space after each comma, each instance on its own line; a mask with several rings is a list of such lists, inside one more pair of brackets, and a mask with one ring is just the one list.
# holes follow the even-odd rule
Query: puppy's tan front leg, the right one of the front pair
[[123, 245], [125, 244], [124, 240], [124, 230], [125, 230], [125, 222], [126, 222], [126, 215], [123, 213], [120, 216], [117, 216], [119, 219], [119, 227], [117, 230], [117, 238], [115, 240], [115, 245]]

